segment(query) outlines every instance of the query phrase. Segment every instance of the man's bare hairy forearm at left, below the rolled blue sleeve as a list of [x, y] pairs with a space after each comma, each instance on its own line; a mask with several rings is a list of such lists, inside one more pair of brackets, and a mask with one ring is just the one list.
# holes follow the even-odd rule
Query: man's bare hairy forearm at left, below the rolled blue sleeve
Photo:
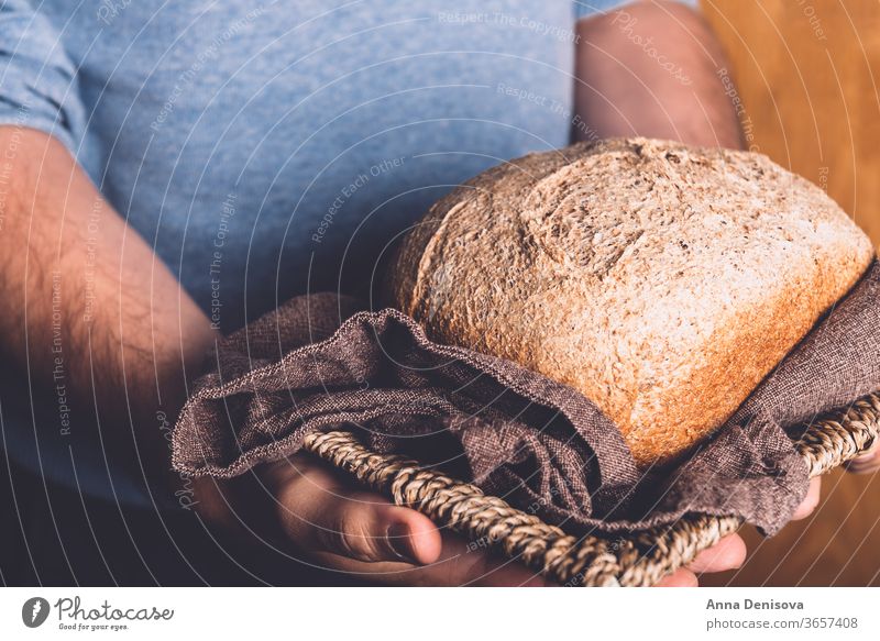
[[78, 416], [110, 441], [133, 429], [148, 471], [167, 468], [156, 412], [184, 402], [208, 319], [58, 142], [0, 128], [0, 353], [35, 397], [63, 385]]

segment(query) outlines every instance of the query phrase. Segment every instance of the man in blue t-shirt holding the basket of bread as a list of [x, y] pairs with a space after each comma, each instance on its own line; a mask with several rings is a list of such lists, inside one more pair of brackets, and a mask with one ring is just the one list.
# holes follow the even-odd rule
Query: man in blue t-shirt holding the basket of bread
[[[304, 455], [180, 478], [169, 426], [221, 334], [367, 290], [382, 247], [490, 166], [617, 135], [741, 147], [693, 3], [34, 4], [0, 8], [0, 398], [22, 478], [254, 549], [280, 534], [339, 581], [542, 583]], [[816, 482], [795, 517], [817, 500]], [[744, 556], [727, 537], [664, 584]]]

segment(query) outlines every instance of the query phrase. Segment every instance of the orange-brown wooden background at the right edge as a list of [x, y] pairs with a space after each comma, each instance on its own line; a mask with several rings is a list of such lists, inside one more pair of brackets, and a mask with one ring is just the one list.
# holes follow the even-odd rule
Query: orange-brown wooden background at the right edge
[[[880, 2], [703, 0], [757, 151], [820, 186], [880, 243]], [[880, 357], [880, 355], [878, 356]], [[826, 477], [820, 508], [705, 585], [880, 585], [880, 476]]]

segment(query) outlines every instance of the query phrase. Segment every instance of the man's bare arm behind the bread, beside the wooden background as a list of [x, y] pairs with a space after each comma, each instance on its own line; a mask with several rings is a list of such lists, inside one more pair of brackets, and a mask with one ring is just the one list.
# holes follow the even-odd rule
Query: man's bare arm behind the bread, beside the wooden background
[[636, 2], [578, 25], [579, 140], [644, 135], [743, 146], [706, 22], [675, 2]]

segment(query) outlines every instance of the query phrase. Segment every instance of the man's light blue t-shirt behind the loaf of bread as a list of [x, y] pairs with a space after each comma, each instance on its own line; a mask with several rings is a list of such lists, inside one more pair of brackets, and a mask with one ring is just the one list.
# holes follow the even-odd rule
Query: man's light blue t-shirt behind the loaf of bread
[[[365, 295], [454, 185], [568, 144], [575, 21], [622, 3], [4, 0], [0, 124], [58, 136], [228, 332], [306, 290]], [[138, 495], [6, 413], [29, 467]]]

